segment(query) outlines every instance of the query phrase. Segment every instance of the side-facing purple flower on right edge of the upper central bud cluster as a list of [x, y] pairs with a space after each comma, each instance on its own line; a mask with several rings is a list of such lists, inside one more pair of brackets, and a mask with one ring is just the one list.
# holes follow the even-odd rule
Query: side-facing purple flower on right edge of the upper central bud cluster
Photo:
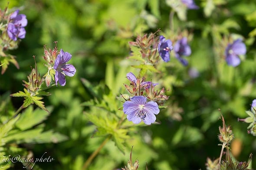
[[171, 40], [165, 40], [163, 35], [159, 36], [158, 52], [164, 62], [170, 61], [170, 51], [173, 49]]

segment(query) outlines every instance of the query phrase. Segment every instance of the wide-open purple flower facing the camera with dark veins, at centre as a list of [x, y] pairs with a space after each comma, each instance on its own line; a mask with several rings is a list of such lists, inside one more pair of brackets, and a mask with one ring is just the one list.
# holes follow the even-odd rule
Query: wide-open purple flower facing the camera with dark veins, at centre
[[123, 105], [123, 111], [127, 115], [128, 121], [135, 124], [141, 122], [150, 125], [156, 120], [156, 116], [160, 110], [156, 102], [147, 102], [147, 97], [134, 96], [131, 101], [126, 101]]

